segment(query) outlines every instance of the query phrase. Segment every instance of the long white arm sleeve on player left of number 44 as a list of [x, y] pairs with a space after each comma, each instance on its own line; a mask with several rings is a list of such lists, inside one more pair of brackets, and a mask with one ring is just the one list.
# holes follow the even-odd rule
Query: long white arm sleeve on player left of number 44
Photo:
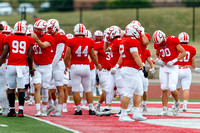
[[56, 47], [56, 54], [54, 56], [54, 59], [53, 59], [53, 63], [52, 63], [52, 67], [54, 68], [56, 66], [56, 64], [58, 64], [61, 56], [62, 56], [62, 53], [64, 51], [64, 48], [65, 48], [65, 44], [64, 43], [59, 43]]

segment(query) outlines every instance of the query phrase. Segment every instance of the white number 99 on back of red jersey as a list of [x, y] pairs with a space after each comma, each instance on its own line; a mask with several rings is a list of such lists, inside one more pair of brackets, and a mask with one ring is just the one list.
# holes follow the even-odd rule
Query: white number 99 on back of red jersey
[[20, 54], [25, 54], [26, 52], [26, 42], [25, 41], [17, 41], [14, 40], [12, 42], [12, 52], [13, 53], [20, 53]]

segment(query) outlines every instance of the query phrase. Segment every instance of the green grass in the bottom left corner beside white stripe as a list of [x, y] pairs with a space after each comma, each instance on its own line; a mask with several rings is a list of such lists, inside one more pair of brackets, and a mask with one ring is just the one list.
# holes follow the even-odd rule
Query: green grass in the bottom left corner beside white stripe
[[1, 133], [71, 133], [70, 131], [29, 117], [19, 118], [0, 116], [0, 125], [1, 124], [8, 125], [8, 127], [0, 126]]

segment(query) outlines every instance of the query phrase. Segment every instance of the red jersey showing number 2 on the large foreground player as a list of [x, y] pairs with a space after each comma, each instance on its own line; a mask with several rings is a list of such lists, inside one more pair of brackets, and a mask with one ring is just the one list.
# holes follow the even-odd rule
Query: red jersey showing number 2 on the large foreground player
[[120, 45], [120, 53], [122, 54], [122, 66], [123, 67], [133, 67], [135, 69], [139, 69], [140, 67], [135, 62], [130, 48], [137, 47], [138, 51], [140, 51], [140, 42], [134, 37], [127, 37], [121, 41]]

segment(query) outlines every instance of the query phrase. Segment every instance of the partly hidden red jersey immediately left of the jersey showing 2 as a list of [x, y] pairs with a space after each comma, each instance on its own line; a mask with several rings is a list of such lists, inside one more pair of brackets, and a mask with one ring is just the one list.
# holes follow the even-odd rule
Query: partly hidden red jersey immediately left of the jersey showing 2
[[115, 67], [115, 65], [118, 62], [118, 59], [120, 57], [120, 53], [119, 53], [119, 46], [120, 43], [122, 41], [122, 38], [115, 38], [111, 43], [110, 43], [110, 53], [111, 53], [111, 60], [110, 60], [110, 64], [111, 67]]

